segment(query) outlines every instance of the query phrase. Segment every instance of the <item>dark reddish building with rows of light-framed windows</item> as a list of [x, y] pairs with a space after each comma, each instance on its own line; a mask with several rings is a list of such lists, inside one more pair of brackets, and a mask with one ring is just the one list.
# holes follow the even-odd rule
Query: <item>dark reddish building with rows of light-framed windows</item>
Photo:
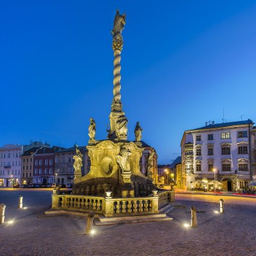
[[54, 155], [61, 147], [40, 147], [33, 153], [33, 184], [52, 184], [54, 178]]

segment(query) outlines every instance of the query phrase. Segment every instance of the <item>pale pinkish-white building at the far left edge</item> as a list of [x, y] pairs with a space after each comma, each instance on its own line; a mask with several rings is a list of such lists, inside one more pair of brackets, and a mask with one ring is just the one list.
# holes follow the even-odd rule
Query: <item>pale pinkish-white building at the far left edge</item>
[[20, 184], [20, 155], [23, 147], [8, 144], [0, 147], [0, 186], [10, 187]]

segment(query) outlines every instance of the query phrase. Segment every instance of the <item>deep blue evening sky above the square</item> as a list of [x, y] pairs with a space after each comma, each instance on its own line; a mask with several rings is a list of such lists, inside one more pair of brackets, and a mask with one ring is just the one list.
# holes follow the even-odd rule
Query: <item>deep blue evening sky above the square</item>
[[256, 122], [255, 1], [3, 1], [0, 145], [86, 145], [92, 116], [106, 138], [113, 98], [111, 29], [123, 31], [122, 102], [129, 139], [140, 121], [159, 163], [184, 130]]

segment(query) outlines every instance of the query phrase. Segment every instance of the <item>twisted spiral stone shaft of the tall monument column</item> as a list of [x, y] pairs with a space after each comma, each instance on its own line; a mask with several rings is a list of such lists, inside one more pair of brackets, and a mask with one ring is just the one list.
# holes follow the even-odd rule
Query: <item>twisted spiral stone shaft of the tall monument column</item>
[[121, 70], [121, 65], [120, 65], [120, 61], [121, 61], [121, 51], [115, 50], [114, 51], [114, 79], [113, 79], [113, 84], [114, 84], [114, 89], [113, 89], [113, 95], [114, 95], [114, 99], [115, 100], [120, 100], [121, 99], [121, 74], [120, 74], [120, 70]]

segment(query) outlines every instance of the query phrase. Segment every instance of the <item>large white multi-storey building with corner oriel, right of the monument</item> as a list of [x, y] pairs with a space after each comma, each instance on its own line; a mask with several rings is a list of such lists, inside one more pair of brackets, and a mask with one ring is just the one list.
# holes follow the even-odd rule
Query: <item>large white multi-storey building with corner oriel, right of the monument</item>
[[[252, 180], [252, 129], [248, 119], [240, 122], [214, 124], [184, 132], [181, 141], [184, 188], [191, 190], [195, 183], [207, 184], [215, 179], [221, 190], [237, 191]], [[215, 185], [216, 186], [216, 185]], [[219, 188], [219, 186], [218, 186]]]

